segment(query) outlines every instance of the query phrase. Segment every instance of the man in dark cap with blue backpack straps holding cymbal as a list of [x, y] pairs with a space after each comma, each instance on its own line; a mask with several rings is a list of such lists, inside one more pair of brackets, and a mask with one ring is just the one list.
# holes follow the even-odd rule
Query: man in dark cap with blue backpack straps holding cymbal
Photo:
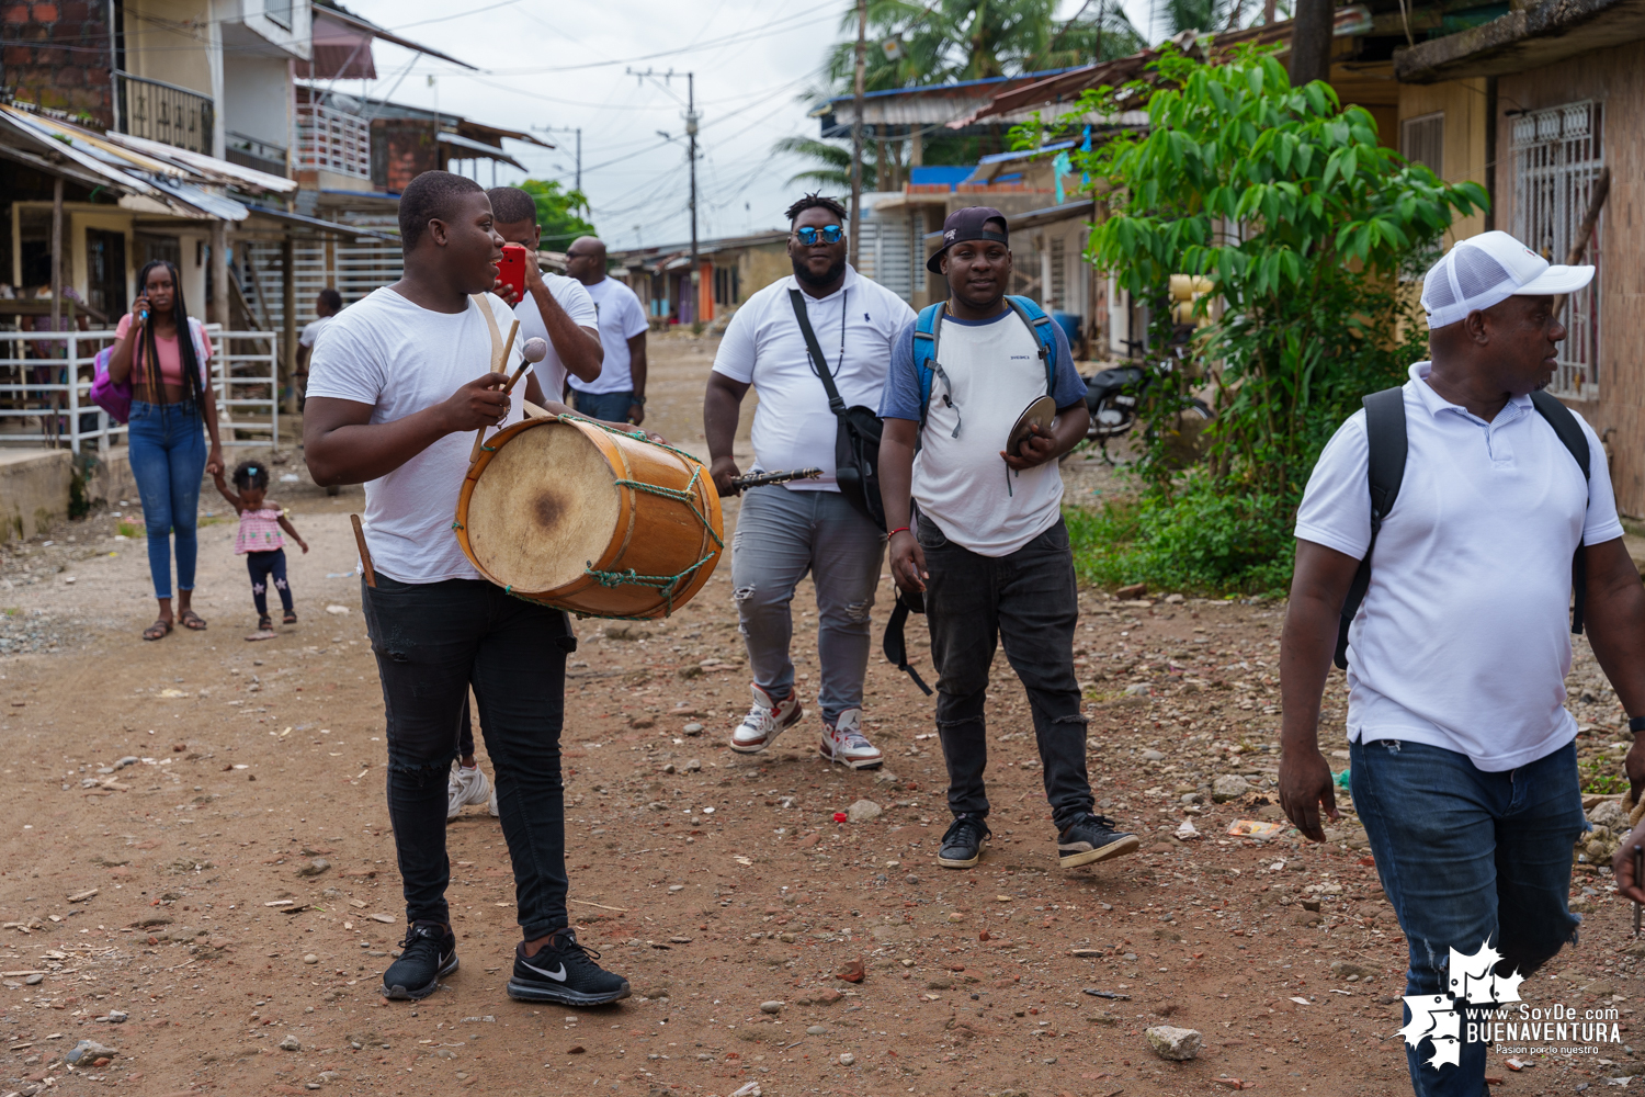
[[[1058, 862], [1074, 868], [1130, 854], [1137, 837], [1091, 811], [1074, 679], [1079, 602], [1056, 459], [1086, 436], [1086, 385], [1063, 329], [1033, 301], [1005, 294], [1012, 253], [1000, 211], [949, 214], [926, 268], [948, 278], [949, 299], [926, 308], [892, 350], [880, 493], [892, 576], [905, 597], [924, 594], [931, 627], [954, 812], [938, 863], [971, 868], [989, 837], [984, 702], [1000, 641], [1028, 691]], [[1041, 408], [1054, 405], [1056, 418], [1008, 444], [1023, 410], [1046, 398]]]

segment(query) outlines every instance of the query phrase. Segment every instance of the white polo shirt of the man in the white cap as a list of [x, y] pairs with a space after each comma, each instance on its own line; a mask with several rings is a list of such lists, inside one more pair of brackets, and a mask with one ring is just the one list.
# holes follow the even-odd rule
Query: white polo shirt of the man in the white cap
[[[1349, 738], [1467, 755], [1485, 773], [1545, 758], [1576, 737], [1571, 554], [1622, 536], [1592, 428], [1589, 475], [1520, 396], [1492, 423], [1426, 382], [1405, 383], [1408, 456], [1349, 627]], [[1319, 454], [1296, 536], [1362, 559], [1370, 544], [1365, 413]]]

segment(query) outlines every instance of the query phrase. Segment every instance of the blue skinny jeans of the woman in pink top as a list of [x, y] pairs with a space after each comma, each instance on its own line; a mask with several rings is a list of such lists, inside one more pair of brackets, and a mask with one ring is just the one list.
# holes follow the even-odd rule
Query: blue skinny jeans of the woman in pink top
[[148, 574], [155, 597], [171, 597], [171, 533], [178, 535], [178, 589], [194, 589], [194, 559], [199, 554], [196, 518], [201, 507], [201, 475], [206, 472], [206, 434], [192, 400], [171, 405], [132, 401], [127, 434], [132, 479], [143, 500], [148, 531]]

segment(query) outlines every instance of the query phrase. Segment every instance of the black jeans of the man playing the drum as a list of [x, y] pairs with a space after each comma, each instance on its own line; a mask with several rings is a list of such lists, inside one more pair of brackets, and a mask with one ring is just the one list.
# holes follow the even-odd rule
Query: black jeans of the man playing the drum
[[566, 786], [559, 732], [566, 615], [479, 579], [408, 584], [377, 572], [362, 582], [365, 627], [383, 679], [388, 722], [388, 819], [408, 921], [449, 921], [446, 775], [469, 687], [480, 702], [497, 809], [515, 870], [525, 937], [566, 928]]

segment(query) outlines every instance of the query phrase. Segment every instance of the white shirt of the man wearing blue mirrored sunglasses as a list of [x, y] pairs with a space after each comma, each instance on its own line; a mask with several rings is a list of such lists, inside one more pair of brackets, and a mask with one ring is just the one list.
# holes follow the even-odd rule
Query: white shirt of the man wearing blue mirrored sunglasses
[[[811, 365], [788, 301], [795, 288], [799, 281], [790, 275], [757, 291], [732, 314], [714, 355], [714, 372], [734, 382], [752, 382], [758, 390], [760, 405], [753, 411], [758, 469], [822, 469], [818, 480], [793, 480], [785, 487], [790, 492], [837, 492], [834, 436], [839, 421], [829, 411], [827, 390]], [[915, 311], [850, 266], [837, 291], [826, 298], [801, 291], [801, 298], [846, 406], [878, 406], [892, 344], [915, 319]]]

